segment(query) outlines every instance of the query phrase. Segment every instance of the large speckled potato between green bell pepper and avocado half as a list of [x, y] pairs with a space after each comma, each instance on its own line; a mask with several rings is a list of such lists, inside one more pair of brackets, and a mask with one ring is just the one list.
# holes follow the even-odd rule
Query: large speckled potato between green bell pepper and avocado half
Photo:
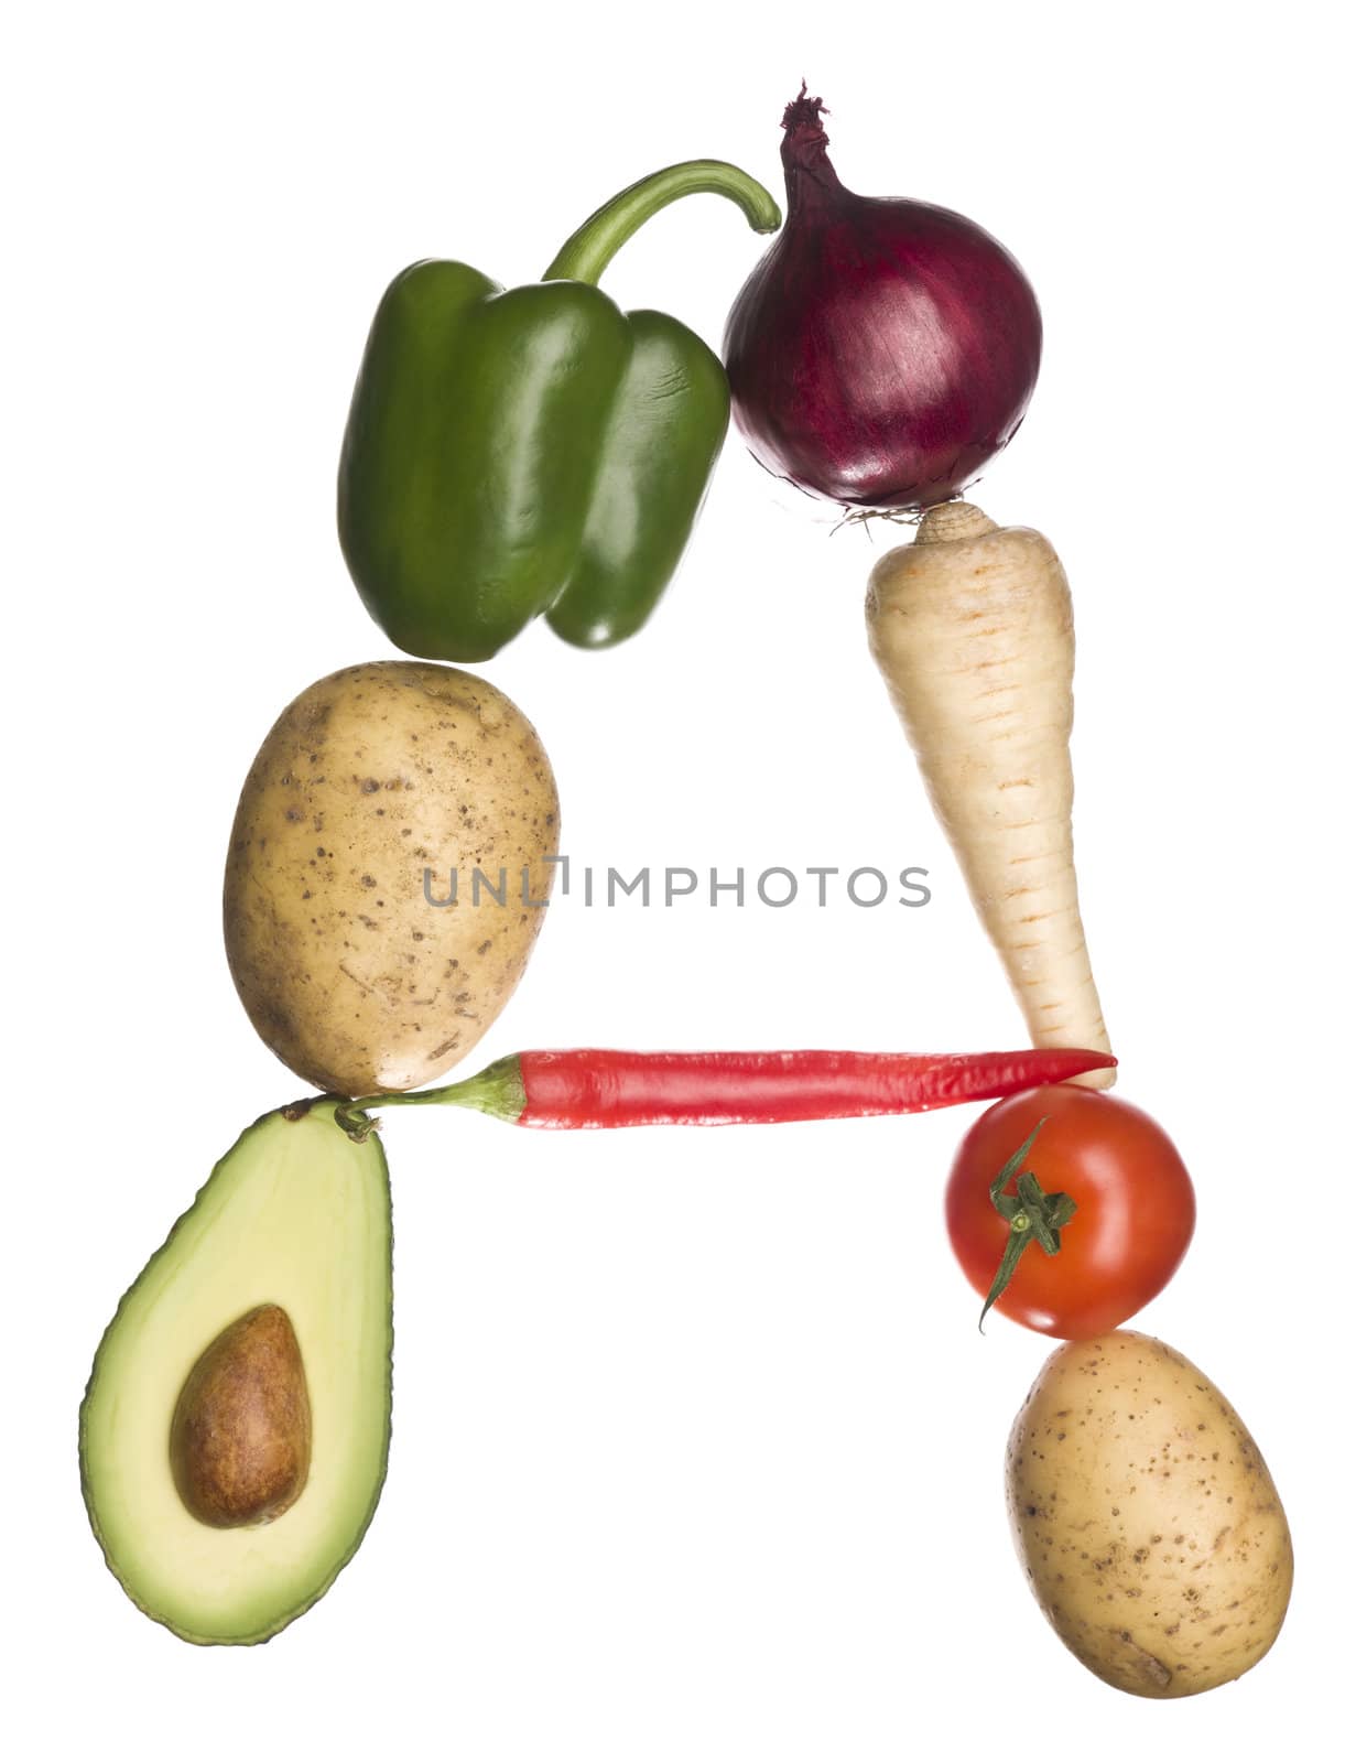
[[[319, 679], [263, 742], [229, 844], [224, 940], [252, 1026], [335, 1095], [439, 1077], [518, 984], [559, 832], [536, 730], [494, 686], [427, 661]], [[432, 904], [453, 871], [457, 903]]]

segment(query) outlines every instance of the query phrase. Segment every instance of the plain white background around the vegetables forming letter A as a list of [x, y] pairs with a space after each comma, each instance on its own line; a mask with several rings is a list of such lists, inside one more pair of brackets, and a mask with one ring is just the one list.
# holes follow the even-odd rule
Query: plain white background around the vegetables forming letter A
[[[1326, 1754], [1340, 1670], [1338, 190], [1326, 7], [51, 5], [5, 51], [5, 1731], [18, 1756]], [[1077, 841], [1123, 1093], [1197, 1241], [1141, 1317], [1257, 1433], [1297, 1544], [1243, 1682], [1132, 1701], [1058, 1645], [1001, 1504], [1049, 1343], [945, 1245], [970, 1116], [529, 1135], [390, 1118], [383, 1507], [310, 1615], [194, 1650], [104, 1571], [76, 1407], [212, 1162], [300, 1090], [219, 934], [280, 707], [390, 654], [335, 538], [388, 279], [536, 277], [675, 159], [781, 189], [806, 74], [841, 176], [975, 215], [1045, 312], [980, 499], [1077, 599]], [[689, 201], [605, 286], [719, 338], [760, 242]], [[899, 538], [899, 532], [890, 538]], [[888, 536], [883, 536], [887, 541]], [[873, 541], [730, 435], [652, 628], [485, 672], [575, 862], [931, 871], [922, 911], [550, 915], [479, 1058], [1015, 1044], [866, 651]], [[18, 621], [18, 631], [14, 629]]]

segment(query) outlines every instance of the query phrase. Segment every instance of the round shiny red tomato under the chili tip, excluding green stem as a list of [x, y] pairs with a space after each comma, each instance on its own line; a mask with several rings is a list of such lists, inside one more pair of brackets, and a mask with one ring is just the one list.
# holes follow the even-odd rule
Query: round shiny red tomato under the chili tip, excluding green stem
[[1028, 1245], [994, 1308], [1061, 1340], [1103, 1335], [1178, 1269], [1195, 1229], [1192, 1178], [1163, 1128], [1116, 1097], [1045, 1084], [996, 1102], [962, 1139], [947, 1194], [954, 1253], [982, 1298], [1008, 1239], [991, 1183], [1038, 1121], [1024, 1169], [1079, 1209], [1058, 1255]]

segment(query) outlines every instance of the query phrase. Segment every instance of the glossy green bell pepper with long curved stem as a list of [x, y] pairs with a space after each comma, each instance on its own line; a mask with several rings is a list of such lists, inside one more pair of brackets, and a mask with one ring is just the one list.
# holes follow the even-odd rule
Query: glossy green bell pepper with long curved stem
[[717, 356], [663, 312], [598, 289], [652, 213], [728, 196], [779, 210], [721, 160], [670, 166], [599, 208], [541, 282], [412, 263], [374, 316], [340, 455], [337, 524], [398, 649], [485, 661], [545, 614], [571, 643], [631, 636], [700, 511], [728, 427]]

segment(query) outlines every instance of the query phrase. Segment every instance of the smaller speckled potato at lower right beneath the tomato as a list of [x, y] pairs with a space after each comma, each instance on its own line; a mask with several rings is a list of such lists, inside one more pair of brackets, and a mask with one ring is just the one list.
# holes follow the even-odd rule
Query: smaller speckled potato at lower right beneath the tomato
[[1280, 1633], [1294, 1551], [1257, 1446], [1148, 1335], [1068, 1342], [1014, 1423], [1008, 1514], [1047, 1620], [1132, 1696], [1195, 1696]]

